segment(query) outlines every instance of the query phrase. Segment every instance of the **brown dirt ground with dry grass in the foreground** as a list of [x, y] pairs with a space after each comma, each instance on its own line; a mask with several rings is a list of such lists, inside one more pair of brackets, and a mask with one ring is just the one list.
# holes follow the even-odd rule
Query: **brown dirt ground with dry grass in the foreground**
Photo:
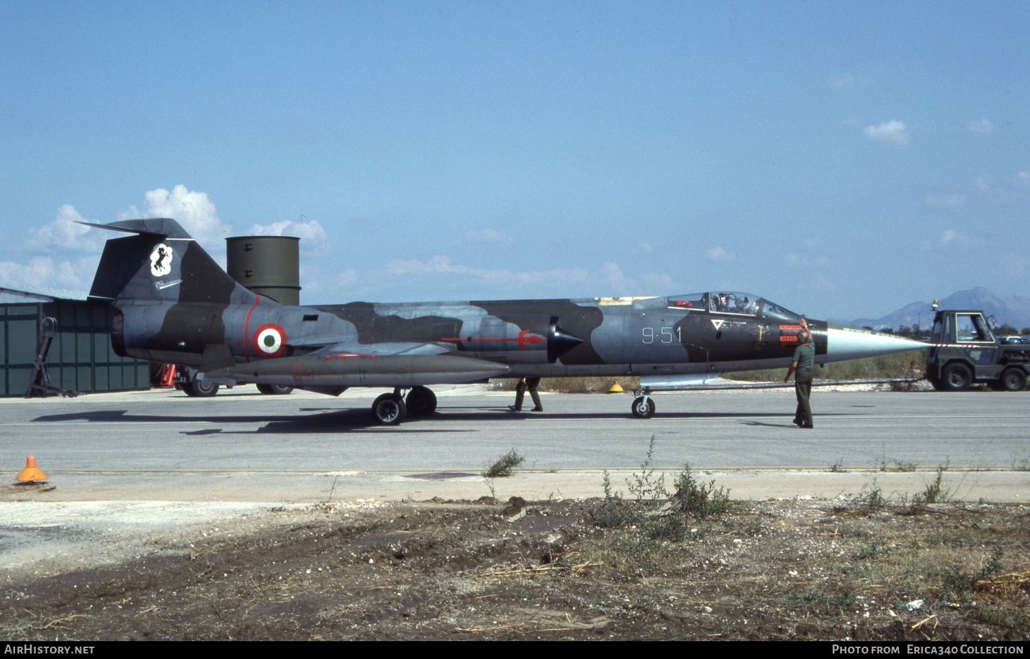
[[[599, 500], [320, 506], [8, 585], [0, 633], [83, 639], [952, 639], [1030, 633], [1030, 509], [735, 502], [682, 540]], [[504, 512], [504, 515], [503, 515]], [[523, 515], [524, 514], [524, 515]], [[508, 521], [514, 520], [514, 521]]]

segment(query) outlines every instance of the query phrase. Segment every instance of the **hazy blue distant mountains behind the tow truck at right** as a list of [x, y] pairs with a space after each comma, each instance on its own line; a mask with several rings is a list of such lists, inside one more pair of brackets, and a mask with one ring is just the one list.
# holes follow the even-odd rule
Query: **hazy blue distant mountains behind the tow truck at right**
[[[1017, 330], [1030, 327], [1030, 298], [999, 296], [983, 286], [960, 290], [942, 298], [940, 308], [980, 309], [985, 315], [993, 315], [999, 325], [1007, 322]], [[929, 330], [930, 325], [933, 324], [933, 308], [930, 302], [914, 302], [880, 318], [854, 318], [835, 322], [853, 327], [872, 327], [873, 330], [885, 327], [897, 330], [901, 325], [912, 327], [918, 323], [923, 330]]]

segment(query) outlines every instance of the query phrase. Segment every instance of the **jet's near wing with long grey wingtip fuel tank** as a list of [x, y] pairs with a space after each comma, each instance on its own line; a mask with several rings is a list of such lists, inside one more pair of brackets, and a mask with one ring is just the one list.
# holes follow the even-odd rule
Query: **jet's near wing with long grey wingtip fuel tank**
[[281, 384], [339, 394], [347, 387], [413, 387], [495, 378], [508, 366], [432, 343], [337, 343], [303, 356], [261, 359], [204, 374], [222, 384]]

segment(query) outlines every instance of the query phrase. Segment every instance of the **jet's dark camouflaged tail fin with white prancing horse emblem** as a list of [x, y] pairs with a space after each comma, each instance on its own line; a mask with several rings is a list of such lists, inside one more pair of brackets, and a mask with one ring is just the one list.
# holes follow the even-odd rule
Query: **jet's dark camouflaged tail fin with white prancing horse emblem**
[[82, 223], [136, 234], [104, 245], [91, 298], [222, 305], [253, 300], [254, 293], [230, 277], [174, 219]]

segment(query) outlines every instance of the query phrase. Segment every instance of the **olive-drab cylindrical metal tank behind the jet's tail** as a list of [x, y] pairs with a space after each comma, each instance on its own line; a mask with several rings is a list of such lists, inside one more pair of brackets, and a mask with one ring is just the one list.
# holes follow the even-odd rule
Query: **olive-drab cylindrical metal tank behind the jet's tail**
[[294, 236], [227, 238], [226, 270], [248, 290], [284, 305], [299, 305], [300, 241]]

